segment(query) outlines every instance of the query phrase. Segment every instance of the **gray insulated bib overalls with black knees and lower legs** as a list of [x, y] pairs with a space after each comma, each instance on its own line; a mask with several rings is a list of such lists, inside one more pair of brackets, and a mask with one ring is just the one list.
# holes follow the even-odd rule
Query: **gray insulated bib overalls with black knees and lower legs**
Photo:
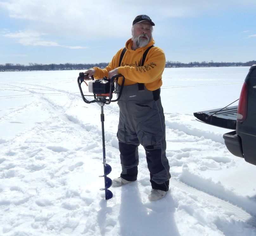
[[170, 166], [165, 154], [165, 123], [160, 88], [139, 90], [138, 84], [124, 86], [118, 101], [120, 109], [117, 137], [122, 165], [121, 177], [137, 180], [138, 146], [146, 151], [153, 189], [169, 190]]

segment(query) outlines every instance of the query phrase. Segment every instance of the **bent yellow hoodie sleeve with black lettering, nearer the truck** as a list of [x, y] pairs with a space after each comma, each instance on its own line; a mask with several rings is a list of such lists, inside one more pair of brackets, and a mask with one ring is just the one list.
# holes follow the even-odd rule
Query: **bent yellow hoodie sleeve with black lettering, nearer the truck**
[[153, 47], [145, 60], [144, 66], [121, 66], [118, 74], [136, 83], [152, 83], [161, 80], [165, 67], [165, 55], [162, 49]]

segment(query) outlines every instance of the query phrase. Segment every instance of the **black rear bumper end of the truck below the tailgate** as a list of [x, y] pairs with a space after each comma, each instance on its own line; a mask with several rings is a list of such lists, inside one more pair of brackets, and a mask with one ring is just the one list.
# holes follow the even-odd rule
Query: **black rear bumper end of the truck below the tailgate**
[[242, 141], [236, 131], [223, 134], [227, 149], [235, 156], [243, 157]]

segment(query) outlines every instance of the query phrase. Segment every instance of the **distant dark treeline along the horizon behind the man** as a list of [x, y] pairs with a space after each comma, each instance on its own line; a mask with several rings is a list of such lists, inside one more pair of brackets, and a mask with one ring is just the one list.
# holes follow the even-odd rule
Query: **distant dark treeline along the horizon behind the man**
[[[12, 64], [6, 63], [0, 65], [0, 71], [27, 71], [27, 70], [86, 70], [92, 67], [105, 68], [109, 63], [101, 62], [96, 64], [74, 64], [74, 63], [65, 63], [65, 64], [37, 64], [29, 63], [29, 65], [21, 64]], [[256, 61], [249, 62], [174, 62], [167, 61], [165, 63], [166, 68], [179, 68], [179, 67], [224, 67], [224, 66], [252, 66], [256, 64]]]

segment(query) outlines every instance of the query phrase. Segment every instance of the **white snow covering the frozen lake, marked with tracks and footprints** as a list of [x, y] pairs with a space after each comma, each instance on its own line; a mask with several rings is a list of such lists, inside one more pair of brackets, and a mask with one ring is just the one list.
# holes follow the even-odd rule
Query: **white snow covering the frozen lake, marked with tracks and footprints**
[[[0, 73], [0, 235], [256, 235], [256, 166], [228, 152], [230, 130], [193, 112], [239, 98], [249, 67], [166, 68], [170, 191], [149, 202], [144, 149], [138, 181], [105, 200], [100, 106], [82, 101], [80, 71]], [[235, 105], [237, 103], [234, 103]], [[118, 106], [104, 106], [110, 178], [121, 171]]]

